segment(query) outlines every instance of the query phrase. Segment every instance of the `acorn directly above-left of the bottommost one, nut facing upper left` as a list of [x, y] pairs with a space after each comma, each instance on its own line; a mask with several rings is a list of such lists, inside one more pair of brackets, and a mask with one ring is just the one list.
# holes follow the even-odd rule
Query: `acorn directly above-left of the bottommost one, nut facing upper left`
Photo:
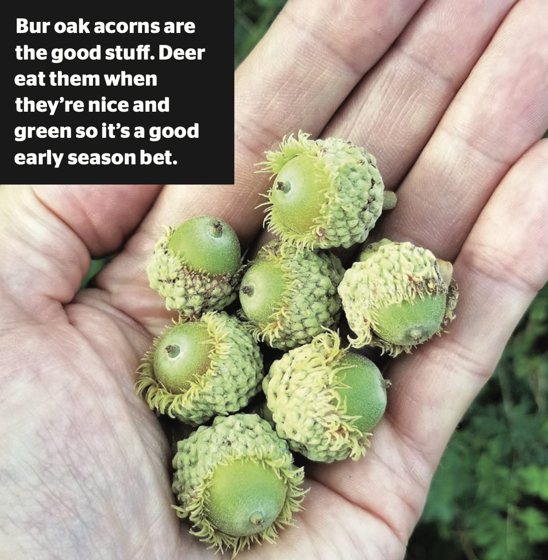
[[197, 426], [245, 407], [260, 391], [263, 359], [245, 325], [209, 311], [155, 339], [138, 374], [137, 392], [151, 409]]

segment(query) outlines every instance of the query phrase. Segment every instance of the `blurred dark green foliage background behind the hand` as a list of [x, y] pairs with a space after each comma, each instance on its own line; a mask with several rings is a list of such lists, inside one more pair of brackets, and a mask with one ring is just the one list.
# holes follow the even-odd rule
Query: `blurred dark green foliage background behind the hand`
[[[235, 67], [285, 0], [235, 0]], [[462, 419], [406, 560], [548, 558], [548, 284]]]

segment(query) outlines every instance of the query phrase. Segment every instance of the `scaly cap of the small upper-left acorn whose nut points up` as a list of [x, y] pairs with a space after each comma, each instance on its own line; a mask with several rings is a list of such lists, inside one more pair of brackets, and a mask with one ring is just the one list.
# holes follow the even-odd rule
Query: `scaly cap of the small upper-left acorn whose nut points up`
[[189, 268], [167, 246], [175, 230], [166, 227], [154, 246], [154, 256], [147, 267], [151, 288], [164, 298], [167, 309], [189, 318], [224, 309], [236, 298], [243, 268], [232, 275], [212, 275]]

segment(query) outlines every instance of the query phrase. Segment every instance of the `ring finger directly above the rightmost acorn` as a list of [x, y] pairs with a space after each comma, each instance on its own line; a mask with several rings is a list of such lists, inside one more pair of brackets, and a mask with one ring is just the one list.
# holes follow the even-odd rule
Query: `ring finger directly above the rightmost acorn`
[[548, 128], [548, 29], [543, 0], [509, 13], [413, 169], [376, 235], [458, 254], [513, 162]]

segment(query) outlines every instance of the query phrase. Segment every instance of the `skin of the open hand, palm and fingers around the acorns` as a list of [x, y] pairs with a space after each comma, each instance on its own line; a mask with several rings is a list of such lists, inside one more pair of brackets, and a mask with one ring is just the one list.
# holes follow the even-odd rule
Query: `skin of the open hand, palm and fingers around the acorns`
[[[299, 128], [367, 145], [399, 196], [375, 239], [454, 262], [461, 298], [450, 333], [391, 362], [366, 458], [308, 465], [298, 528], [241, 558], [404, 557], [449, 437], [548, 278], [548, 31], [545, 0], [364, 6], [290, 0], [238, 69], [235, 188], [0, 189], [7, 558], [212, 557], [170, 507], [168, 438], [133, 389], [170, 319], [145, 266], [161, 226], [191, 214], [249, 245], [268, 187], [254, 164]], [[90, 254], [118, 250], [78, 291]]]

